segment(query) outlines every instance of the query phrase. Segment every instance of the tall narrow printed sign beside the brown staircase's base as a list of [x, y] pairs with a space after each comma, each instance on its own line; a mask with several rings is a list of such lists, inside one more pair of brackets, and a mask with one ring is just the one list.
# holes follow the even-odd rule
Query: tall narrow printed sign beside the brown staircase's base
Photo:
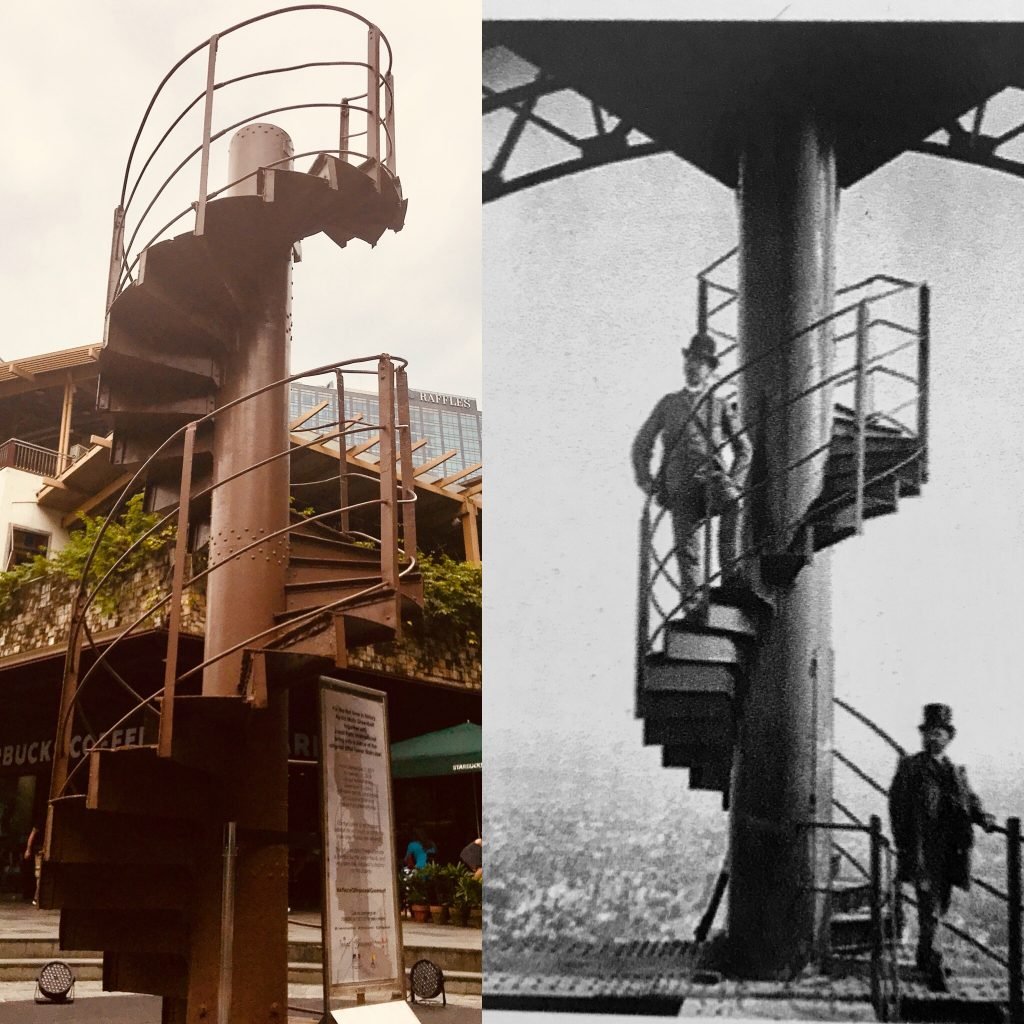
[[325, 997], [403, 992], [387, 697], [322, 679], [319, 711]]

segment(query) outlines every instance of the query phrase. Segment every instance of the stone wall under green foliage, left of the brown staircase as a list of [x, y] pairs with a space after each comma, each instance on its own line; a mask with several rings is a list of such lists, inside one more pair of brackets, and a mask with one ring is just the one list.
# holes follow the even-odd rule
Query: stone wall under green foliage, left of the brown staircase
[[[152, 608], [170, 589], [171, 558], [170, 549], [156, 552], [134, 572], [114, 583], [116, 607], [108, 608], [93, 602], [88, 617], [90, 630], [98, 634], [125, 629]], [[190, 568], [186, 566], [186, 578], [188, 574]], [[77, 581], [62, 575], [37, 580], [18, 589], [0, 609], [0, 658], [63, 646], [68, 642], [72, 603], [77, 591]], [[169, 604], [165, 604], [141, 623], [137, 631], [166, 627], [168, 612]], [[186, 593], [181, 602], [182, 632], [202, 634], [205, 618], [204, 595]]]

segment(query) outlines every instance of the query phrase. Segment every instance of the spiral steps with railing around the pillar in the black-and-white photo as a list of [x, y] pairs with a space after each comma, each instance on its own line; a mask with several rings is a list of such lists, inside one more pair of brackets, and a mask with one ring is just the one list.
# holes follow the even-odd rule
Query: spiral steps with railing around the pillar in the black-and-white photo
[[[792, 521], [765, 527], [760, 536], [740, 534], [741, 550], [717, 568], [712, 557], [712, 520], [730, 511], [730, 506], [710, 508], [709, 503], [691, 535], [702, 532], [702, 573], [688, 589], [673, 566], [676, 546], [669, 522], [671, 508], [657, 507], [674, 447], [663, 453], [644, 503], [636, 714], [644, 720], [645, 744], [662, 745], [663, 763], [689, 768], [690, 786], [722, 793], [726, 807], [736, 717], [745, 687], [742, 666], [763, 617], [771, 613], [771, 586], [792, 580], [816, 551], [860, 532], [866, 518], [895, 511], [901, 494], [919, 494], [927, 477], [928, 447], [927, 286], [885, 275], [858, 282], [838, 293], [846, 299], [840, 309], [766, 347], [745, 366], [737, 366], [736, 332], [724, 322], [736, 309], [737, 290], [721, 280], [732, 255], [727, 253], [699, 278], [698, 328], [725, 343], [722, 372], [694, 402], [676, 443], [686, 442], [688, 430], [700, 431], [709, 449], [708, 464], [720, 462], [728, 455], [725, 450], [732, 439], [719, 444], [711, 440], [713, 397], [728, 394], [736, 384], [741, 386], [744, 375], [760, 369], [783, 347], [817, 344], [818, 337], [828, 332], [834, 358], [830, 366], [826, 362], [822, 378], [794, 394], [769, 400], [763, 416], [784, 418], [808, 399], [823, 401], [834, 412], [833, 429], [820, 443], [760, 479], [738, 482], [731, 507], [742, 513], [795, 472], [816, 474], [817, 497]], [[900, 304], [912, 306], [911, 324], [906, 323], [906, 310]], [[896, 340], [889, 343], [892, 335]], [[872, 351], [879, 336], [886, 339], [886, 347]], [[849, 355], [847, 349], [852, 349]], [[840, 398], [846, 398], [847, 404]], [[906, 422], [908, 411], [912, 426]], [[750, 436], [752, 424], [740, 424], [737, 432]], [[737, 575], [739, 585], [733, 583]]]

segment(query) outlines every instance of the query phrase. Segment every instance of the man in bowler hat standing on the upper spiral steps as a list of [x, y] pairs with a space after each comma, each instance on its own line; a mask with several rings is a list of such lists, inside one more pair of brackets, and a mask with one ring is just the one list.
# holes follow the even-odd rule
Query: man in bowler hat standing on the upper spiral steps
[[[654, 407], [633, 442], [633, 472], [644, 494], [653, 492], [672, 513], [680, 600], [698, 604], [700, 543], [697, 526], [707, 515], [721, 517], [718, 532], [722, 582], [738, 578], [739, 497], [751, 464], [751, 442], [739, 426], [734, 401], [711, 390], [718, 366], [715, 339], [695, 334], [683, 349], [683, 388]], [[654, 441], [662, 436], [662, 468], [650, 473]], [[732, 450], [731, 465], [726, 449]]]

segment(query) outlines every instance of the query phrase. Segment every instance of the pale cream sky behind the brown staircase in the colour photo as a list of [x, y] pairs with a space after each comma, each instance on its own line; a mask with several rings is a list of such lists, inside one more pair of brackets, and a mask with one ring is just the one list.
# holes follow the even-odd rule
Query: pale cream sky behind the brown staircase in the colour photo
[[[101, 340], [112, 215], [150, 96], [195, 45], [274, 6], [266, 0], [2, 5], [0, 356]], [[381, 28], [394, 51], [398, 173], [409, 217], [403, 231], [388, 232], [373, 251], [359, 242], [340, 250], [323, 237], [305, 244], [295, 268], [293, 369], [386, 350], [411, 360], [414, 384], [479, 397], [479, 10], [469, 0], [368, 0], [356, 9]], [[302, 12], [224, 39], [220, 59], [224, 72], [238, 74], [365, 57], [361, 27], [340, 15]], [[171, 101], [155, 112], [161, 132], [201, 91], [203, 59], [194, 58], [168, 87]], [[284, 94], [284, 81], [273, 80], [275, 97]], [[299, 101], [337, 102], [348, 92], [340, 78], [305, 81], [312, 84]], [[244, 88], [240, 94], [262, 103], [247, 113], [276, 105], [264, 102], [265, 88], [262, 94]], [[226, 92], [217, 102], [215, 130], [232, 110]], [[298, 150], [337, 145], [333, 121], [325, 134], [308, 119], [295, 130], [279, 120]], [[184, 126], [167, 143], [175, 162], [197, 137]], [[214, 167], [211, 187], [225, 183], [223, 167]], [[195, 162], [183, 175], [195, 188]], [[183, 196], [175, 212], [194, 198]], [[154, 221], [154, 229], [163, 222]]]

